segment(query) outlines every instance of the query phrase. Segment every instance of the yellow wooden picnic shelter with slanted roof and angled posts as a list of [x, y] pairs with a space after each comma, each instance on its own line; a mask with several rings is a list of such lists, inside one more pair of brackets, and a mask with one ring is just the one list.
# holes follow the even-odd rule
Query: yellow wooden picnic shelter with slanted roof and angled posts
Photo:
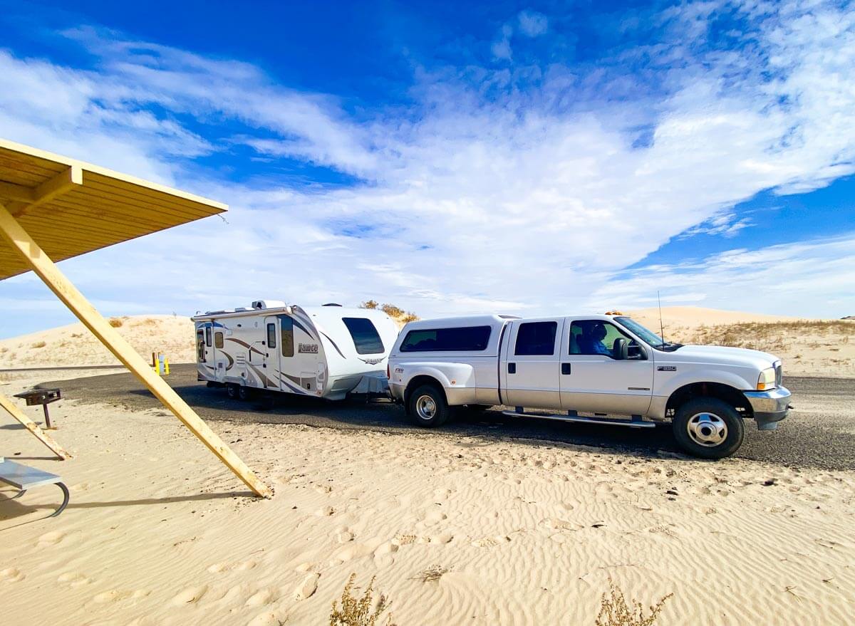
[[[213, 216], [226, 205], [0, 139], [0, 281], [35, 272], [57, 298], [253, 493], [273, 493], [156, 375], [54, 261]], [[68, 453], [8, 398], [0, 406], [60, 458]]]

